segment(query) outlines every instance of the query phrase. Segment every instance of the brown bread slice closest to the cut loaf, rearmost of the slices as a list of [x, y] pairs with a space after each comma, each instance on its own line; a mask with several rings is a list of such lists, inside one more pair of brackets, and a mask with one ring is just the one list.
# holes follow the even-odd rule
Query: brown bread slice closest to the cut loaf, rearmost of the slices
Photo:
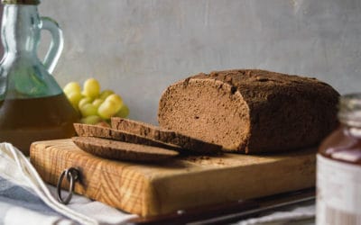
[[220, 152], [221, 146], [211, 141], [192, 138], [173, 130], [162, 129], [142, 121], [134, 121], [120, 117], [111, 118], [111, 127], [116, 130], [126, 130], [148, 139], [154, 139], [180, 146], [180, 148], [190, 149], [198, 153], [215, 154]]

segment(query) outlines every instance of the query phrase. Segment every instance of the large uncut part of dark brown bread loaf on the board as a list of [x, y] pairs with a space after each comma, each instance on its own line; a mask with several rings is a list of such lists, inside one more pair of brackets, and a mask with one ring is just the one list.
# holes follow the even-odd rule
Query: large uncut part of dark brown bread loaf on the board
[[338, 125], [338, 92], [316, 78], [239, 69], [190, 76], [162, 94], [161, 127], [259, 153], [312, 147]]

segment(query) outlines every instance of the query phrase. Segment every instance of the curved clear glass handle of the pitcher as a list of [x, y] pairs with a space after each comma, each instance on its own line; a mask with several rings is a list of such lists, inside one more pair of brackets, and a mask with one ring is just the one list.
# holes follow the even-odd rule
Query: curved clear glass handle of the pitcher
[[48, 72], [51, 74], [60, 58], [60, 54], [64, 46], [64, 39], [62, 37], [62, 31], [58, 23], [56, 23], [49, 17], [41, 17], [41, 21], [41, 29], [51, 32], [51, 46], [46, 53], [43, 61], [43, 65], [48, 69]]

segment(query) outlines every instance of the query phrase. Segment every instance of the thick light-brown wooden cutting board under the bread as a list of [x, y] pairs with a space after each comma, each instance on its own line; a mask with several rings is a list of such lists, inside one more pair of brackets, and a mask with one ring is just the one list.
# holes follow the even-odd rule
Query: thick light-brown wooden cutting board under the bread
[[152, 165], [95, 157], [71, 139], [57, 139], [32, 143], [30, 158], [45, 182], [56, 185], [64, 169], [77, 167], [76, 193], [152, 216], [312, 187], [315, 152], [175, 157]]

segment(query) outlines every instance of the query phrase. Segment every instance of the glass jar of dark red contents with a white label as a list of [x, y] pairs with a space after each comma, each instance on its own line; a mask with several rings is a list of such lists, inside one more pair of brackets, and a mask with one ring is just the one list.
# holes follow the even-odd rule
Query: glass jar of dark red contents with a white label
[[316, 224], [361, 225], [361, 94], [340, 97], [338, 121], [317, 156]]

